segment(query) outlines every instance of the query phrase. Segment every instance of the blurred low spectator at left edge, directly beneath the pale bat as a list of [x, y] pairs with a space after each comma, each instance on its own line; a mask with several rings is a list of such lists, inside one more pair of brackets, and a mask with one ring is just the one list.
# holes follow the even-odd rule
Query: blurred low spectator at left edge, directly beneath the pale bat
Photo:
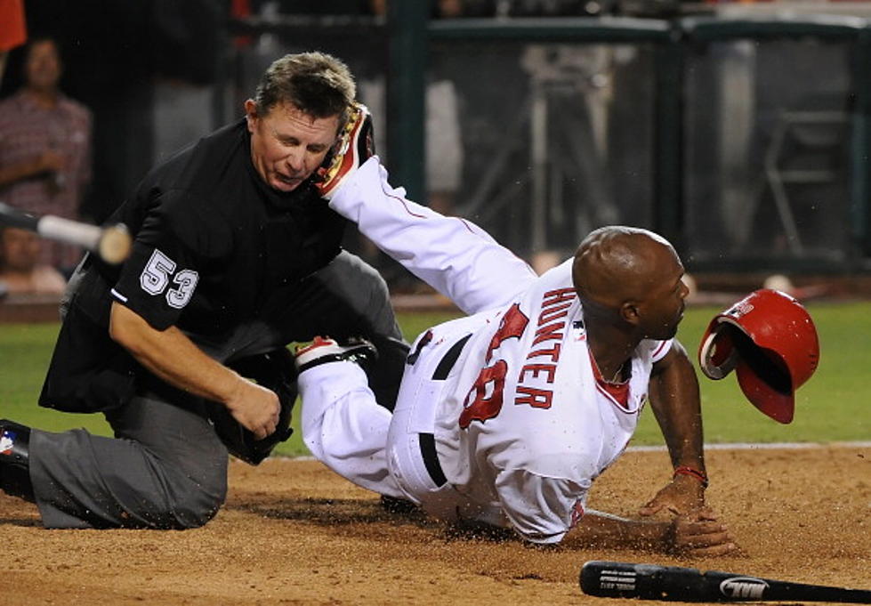
[[39, 263], [42, 242], [35, 233], [0, 230], [0, 283], [10, 295], [58, 295], [67, 280], [51, 265]]

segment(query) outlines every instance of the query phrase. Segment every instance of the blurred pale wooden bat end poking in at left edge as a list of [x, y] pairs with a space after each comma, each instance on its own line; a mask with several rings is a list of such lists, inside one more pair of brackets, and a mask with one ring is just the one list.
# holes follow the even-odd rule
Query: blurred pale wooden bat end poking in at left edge
[[100, 227], [53, 214], [30, 214], [3, 202], [0, 202], [0, 225], [35, 231], [43, 238], [83, 246], [112, 264], [122, 263], [133, 245], [133, 238], [123, 223]]

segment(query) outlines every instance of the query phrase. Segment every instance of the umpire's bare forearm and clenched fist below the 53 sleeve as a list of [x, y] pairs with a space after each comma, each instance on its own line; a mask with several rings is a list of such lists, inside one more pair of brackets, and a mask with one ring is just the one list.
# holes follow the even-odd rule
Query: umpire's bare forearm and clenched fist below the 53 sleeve
[[186, 392], [222, 402], [258, 439], [275, 431], [280, 405], [275, 392], [209, 358], [176, 327], [157, 330], [135, 311], [112, 303], [109, 335], [145, 368]]

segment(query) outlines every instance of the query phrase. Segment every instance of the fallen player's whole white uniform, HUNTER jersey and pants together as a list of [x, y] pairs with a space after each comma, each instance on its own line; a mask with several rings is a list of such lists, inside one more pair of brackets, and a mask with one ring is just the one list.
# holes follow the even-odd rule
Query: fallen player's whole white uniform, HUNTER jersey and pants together
[[641, 342], [615, 398], [593, 374], [571, 261], [536, 277], [476, 226], [391, 190], [376, 158], [330, 206], [477, 313], [418, 337], [392, 417], [356, 365], [303, 372], [303, 440], [349, 480], [441, 518], [561, 540], [632, 436], [652, 365], [671, 342]]

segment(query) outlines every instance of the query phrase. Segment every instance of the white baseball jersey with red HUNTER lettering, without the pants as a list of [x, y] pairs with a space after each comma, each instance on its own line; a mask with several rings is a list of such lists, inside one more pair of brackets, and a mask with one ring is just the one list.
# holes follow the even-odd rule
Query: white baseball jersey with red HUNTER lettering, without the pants
[[593, 480], [632, 437], [653, 363], [670, 348], [641, 342], [627, 384], [610, 389], [623, 393], [610, 393], [594, 376], [571, 264], [479, 314], [436, 411], [440, 464], [468, 501], [458, 514], [542, 543], [561, 540], [583, 514]]

